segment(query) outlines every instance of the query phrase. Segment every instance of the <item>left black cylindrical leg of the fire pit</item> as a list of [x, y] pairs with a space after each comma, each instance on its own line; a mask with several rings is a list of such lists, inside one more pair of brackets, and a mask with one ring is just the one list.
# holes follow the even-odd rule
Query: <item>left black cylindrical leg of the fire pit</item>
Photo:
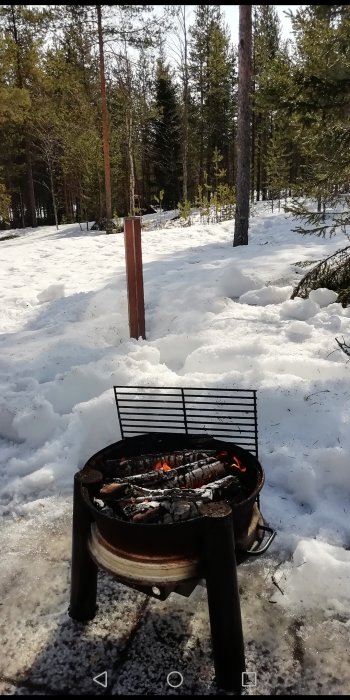
[[74, 477], [73, 542], [69, 615], [81, 622], [96, 614], [97, 566], [92, 561], [87, 542], [90, 535], [90, 513], [81, 496], [82, 481]]

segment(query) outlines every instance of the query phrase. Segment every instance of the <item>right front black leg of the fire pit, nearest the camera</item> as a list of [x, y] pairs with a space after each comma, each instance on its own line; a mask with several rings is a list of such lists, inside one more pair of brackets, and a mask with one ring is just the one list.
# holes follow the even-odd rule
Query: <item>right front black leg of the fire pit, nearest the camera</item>
[[[213, 504], [214, 505], [214, 504]], [[232, 511], [208, 506], [204, 564], [216, 684], [240, 691], [245, 671], [244, 639], [237, 580]]]

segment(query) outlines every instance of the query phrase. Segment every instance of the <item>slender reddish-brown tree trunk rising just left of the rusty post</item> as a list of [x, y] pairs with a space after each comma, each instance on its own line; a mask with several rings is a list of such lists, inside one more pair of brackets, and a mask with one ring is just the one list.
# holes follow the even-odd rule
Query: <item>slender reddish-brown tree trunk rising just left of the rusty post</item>
[[101, 5], [96, 5], [98, 43], [100, 50], [100, 80], [101, 80], [101, 106], [102, 106], [102, 138], [103, 138], [103, 158], [105, 169], [105, 190], [106, 190], [106, 233], [112, 233], [112, 191], [111, 191], [111, 165], [109, 158], [109, 123], [106, 96], [106, 76], [105, 61], [103, 52], [102, 18]]

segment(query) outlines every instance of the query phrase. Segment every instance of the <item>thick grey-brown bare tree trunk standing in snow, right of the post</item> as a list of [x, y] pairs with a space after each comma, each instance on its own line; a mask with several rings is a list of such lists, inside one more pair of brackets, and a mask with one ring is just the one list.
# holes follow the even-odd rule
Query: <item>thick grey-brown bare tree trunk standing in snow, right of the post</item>
[[239, 6], [237, 118], [237, 198], [233, 245], [248, 245], [250, 194], [250, 89], [252, 76], [252, 6]]

